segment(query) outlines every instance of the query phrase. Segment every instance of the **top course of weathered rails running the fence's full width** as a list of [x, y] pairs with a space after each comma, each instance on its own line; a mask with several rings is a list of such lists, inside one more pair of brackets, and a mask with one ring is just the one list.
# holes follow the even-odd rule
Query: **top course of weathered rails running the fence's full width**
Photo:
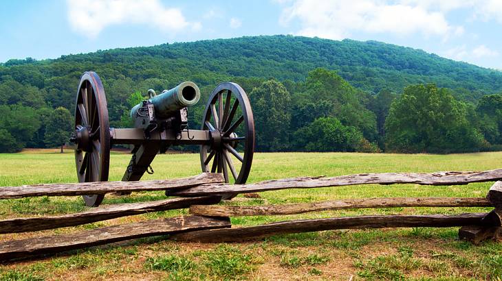
[[[448, 171], [436, 173], [360, 173], [333, 178], [301, 177], [268, 180], [254, 184], [221, 184], [219, 173], [201, 173], [190, 178], [144, 182], [80, 182], [76, 184], [33, 184], [0, 187], [0, 199], [36, 196], [71, 196], [111, 192], [166, 191], [174, 196], [228, 195], [275, 191], [285, 188], [320, 188], [355, 184], [458, 185], [502, 180], [502, 169], [490, 171]], [[501, 188], [502, 189], [502, 188]]]

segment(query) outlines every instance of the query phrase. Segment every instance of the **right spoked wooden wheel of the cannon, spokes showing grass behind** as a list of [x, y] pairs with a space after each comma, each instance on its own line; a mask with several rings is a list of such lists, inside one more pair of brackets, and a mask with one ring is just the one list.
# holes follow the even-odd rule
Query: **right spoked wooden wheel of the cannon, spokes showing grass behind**
[[241, 86], [226, 82], [212, 91], [201, 129], [209, 130], [211, 136], [210, 145], [201, 145], [202, 171], [223, 172], [225, 182], [232, 175], [235, 184], [244, 184], [254, 153], [254, 119]]

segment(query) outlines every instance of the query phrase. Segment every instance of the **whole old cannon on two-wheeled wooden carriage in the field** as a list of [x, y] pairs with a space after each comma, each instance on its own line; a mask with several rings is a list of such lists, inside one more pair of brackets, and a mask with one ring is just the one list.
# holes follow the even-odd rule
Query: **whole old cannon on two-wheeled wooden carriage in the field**
[[[188, 107], [201, 93], [193, 82], [182, 82], [131, 109], [133, 128], [109, 125], [107, 99], [98, 74], [80, 78], [75, 107], [75, 162], [79, 182], [108, 180], [110, 149], [132, 145], [131, 160], [122, 181], [136, 181], [153, 173], [151, 162], [173, 145], [199, 145], [203, 172], [223, 173], [226, 182], [244, 184], [254, 154], [254, 119], [248, 95], [232, 82], [219, 84], [210, 93], [200, 130], [188, 127]], [[84, 195], [87, 206], [99, 206], [104, 195]]]

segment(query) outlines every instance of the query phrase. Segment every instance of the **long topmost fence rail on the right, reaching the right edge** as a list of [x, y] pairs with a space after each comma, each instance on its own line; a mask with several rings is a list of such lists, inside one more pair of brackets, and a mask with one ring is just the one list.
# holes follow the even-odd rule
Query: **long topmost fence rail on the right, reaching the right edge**
[[472, 182], [502, 180], [502, 169], [481, 172], [437, 172], [437, 173], [360, 173], [341, 175], [334, 178], [289, 178], [268, 180], [255, 184], [202, 184], [182, 190], [166, 191], [176, 196], [236, 195], [261, 191], [276, 191], [285, 188], [317, 188], [327, 186], [347, 186], [354, 184], [424, 184], [452, 185]]

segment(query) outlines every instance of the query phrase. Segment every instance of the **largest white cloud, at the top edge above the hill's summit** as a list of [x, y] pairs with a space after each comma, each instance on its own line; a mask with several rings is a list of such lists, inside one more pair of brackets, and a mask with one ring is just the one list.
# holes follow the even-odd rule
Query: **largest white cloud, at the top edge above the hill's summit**
[[[425, 36], [455, 36], [463, 27], [446, 21], [444, 13], [428, 10], [426, 5], [403, 0], [295, 0], [285, 1], [280, 22], [288, 25], [298, 19], [298, 35], [330, 39], [346, 38], [351, 32], [391, 33], [400, 36], [420, 33]], [[453, 3], [453, 2], [452, 2]]]

